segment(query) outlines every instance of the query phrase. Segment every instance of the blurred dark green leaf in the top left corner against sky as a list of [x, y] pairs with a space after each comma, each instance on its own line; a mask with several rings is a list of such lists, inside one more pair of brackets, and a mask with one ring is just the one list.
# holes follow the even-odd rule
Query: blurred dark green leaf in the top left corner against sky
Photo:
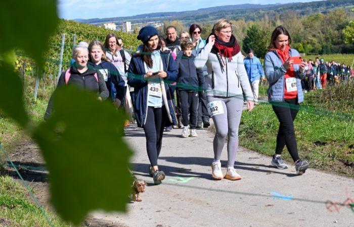
[[23, 49], [42, 66], [48, 39], [59, 22], [56, 4], [56, 0], [2, 1], [0, 51]]

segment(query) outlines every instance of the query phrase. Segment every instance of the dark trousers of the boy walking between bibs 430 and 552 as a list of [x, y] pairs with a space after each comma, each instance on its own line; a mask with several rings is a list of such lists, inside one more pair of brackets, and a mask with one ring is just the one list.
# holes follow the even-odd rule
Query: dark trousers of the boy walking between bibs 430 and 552
[[199, 102], [198, 92], [179, 90], [179, 94], [182, 108], [182, 124], [183, 126], [189, 125], [191, 129], [196, 129]]

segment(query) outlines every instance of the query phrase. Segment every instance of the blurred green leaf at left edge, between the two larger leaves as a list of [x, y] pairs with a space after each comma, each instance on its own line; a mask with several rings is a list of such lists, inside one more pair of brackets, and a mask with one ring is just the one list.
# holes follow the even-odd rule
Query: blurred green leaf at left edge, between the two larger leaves
[[28, 123], [20, 77], [7, 64], [0, 64], [0, 109], [22, 126]]

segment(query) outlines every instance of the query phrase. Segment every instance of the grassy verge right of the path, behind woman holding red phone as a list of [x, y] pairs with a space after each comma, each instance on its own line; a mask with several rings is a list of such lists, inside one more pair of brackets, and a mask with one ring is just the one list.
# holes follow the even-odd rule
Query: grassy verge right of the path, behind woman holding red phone
[[[338, 112], [329, 111], [328, 102], [317, 103], [316, 97], [322, 97], [322, 92], [311, 94], [294, 122], [300, 157], [307, 159], [311, 167], [354, 177], [354, 122]], [[352, 99], [348, 98], [349, 101]], [[348, 111], [346, 109], [344, 116], [348, 116]], [[250, 113], [244, 111], [239, 131], [240, 145], [273, 155], [278, 127], [278, 119], [269, 103], [257, 105]], [[292, 161], [286, 147], [283, 157]]]

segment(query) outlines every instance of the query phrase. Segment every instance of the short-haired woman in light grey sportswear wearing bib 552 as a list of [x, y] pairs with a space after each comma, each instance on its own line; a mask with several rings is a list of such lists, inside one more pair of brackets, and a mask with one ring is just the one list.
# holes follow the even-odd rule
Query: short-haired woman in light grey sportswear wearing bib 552
[[207, 43], [195, 58], [194, 64], [197, 68], [207, 68], [207, 107], [215, 125], [211, 175], [218, 180], [224, 178], [220, 159], [228, 136], [228, 167], [225, 178], [240, 180], [241, 176], [236, 173], [234, 164], [243, 108], [242, 89], [246, 94], [249, 111], [253, 109], [254, 103], [240, 46], [232, 34], [232, 24], [229, 21], [221, 19], [214, 24]]

